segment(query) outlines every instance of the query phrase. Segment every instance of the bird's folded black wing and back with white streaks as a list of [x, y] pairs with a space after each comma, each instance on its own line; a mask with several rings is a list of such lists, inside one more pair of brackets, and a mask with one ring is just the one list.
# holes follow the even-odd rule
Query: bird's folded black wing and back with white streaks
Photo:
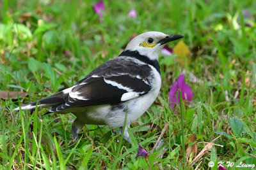
[[51, 108], [68, 108], [116, 104], [147, 94], [151, 89], [152, 69], [130, 57], [117, 57], [93, 70], [78, 81], [65, 103]]

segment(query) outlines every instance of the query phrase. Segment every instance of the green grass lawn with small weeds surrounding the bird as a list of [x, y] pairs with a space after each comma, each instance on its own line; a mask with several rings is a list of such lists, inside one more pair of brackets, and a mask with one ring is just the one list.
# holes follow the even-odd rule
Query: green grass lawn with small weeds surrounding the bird
[[[234, 162], [228, 169], [239, 169], [240, 162], [256, 166], [256, 26], [248, 27], [250, 21], [241, 15], [246, 9], [256, 17], [256, 1], [210, 2], [104, 1], [104, 22], [93, 11], [97, 1], [0, 2], [0, 90], [28, 93], [0, 101], [0, 169], [148, 169], [148, 164], [150, 169], [209, 169], [209, 161], [215, 163], [212, 169], [227, 161]], [[132, 8], [136, 19], [127, 17]], [[31, 17], [20, 22], [25, 12]], [[131, 125], [131, 145], [108, 126], [97, 125], [85, 125], [83, 138], [72, 141], [72, 114], [12, 111], [74, 85], [117, 56], [134, 32], [145, 31], [183, 34], [192, 57], [186, 64], [166, 64], [160, 56], [161, 92]], [[183, 69], [203, 83], [190, 82], [186, 74], [195, 95], [180, 117], [170, 108], [168, 90]], [[163, 146], [151, 152], [166, 123]], [[189, 143], [194, 133], [195, 155], [206, 145], [202, 142], [222, 136], [190, 167], [195, 156], [184, 162], [183, 146], [195, 144]], [[150, 152], [148, 163], [135, 159], [138, 143]]]

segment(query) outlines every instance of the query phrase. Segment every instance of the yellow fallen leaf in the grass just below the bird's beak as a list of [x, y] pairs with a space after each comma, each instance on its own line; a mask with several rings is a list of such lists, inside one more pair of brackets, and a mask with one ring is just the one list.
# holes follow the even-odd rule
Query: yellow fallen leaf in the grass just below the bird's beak
[[174, 46], [173, 53], [178, 56], [177, 61], [182, 66], [184, 66], [185, 62], [191, 62], [190, 51], [184, 41], [180, 40], [179, 43]]

